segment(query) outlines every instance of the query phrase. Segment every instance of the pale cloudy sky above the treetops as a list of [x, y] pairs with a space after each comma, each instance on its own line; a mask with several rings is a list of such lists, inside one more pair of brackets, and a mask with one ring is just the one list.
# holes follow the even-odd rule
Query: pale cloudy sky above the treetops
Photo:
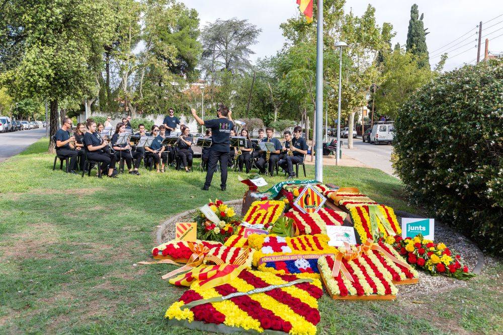
[[[259, 43], [252, 48], [256, 52], [254, 59], [274, 55], [282, 48], [285, 39], [281, 35], [279, 25], [296, 15], [298, 11], [295, 0], [183, 0], [183, 2], [199, 12], [201, 25], [216, 19], [236, 17], [247, 19], [261, 28], [263, 31], [259, 37]], [[399, 42], [403, 45], [407, 38], [410, 7], [414, 3], [419, 6], [420, 13], [425, 14], [425, 28], [428, 28], [430, 32], [427, 35], [427, 44], [432, 64], [440, 58], [436, 55], [444, 51], [448, 51], [452, 57], [446, 63], [447, 70], [465, 62], [474, 63], [477, 56], [477, 49], [474, 47], [477, 38], [475, 33], [478, 32], [476, 26], [480, 21], [487, 22], [491, 19], [493, 20], [482, 25], [482, 28], [487, 27], [483, 29], [482, 36], [493, 32], [486, 36], [490, 40], [489, 51], [495, 54], [503, 53], [503, 1], [348, 0], [346, 9], [353, 9], [356, 15], [361, 15], [367, 5], [371, 4], [376, 8], [379, 24], [390, 22], [393, 25], [396, 32], [393, 44]], [[501, 16], [498, 17], [499, 15]], [[491, 25], [493, 26], [489, 27]], [[450, 42], [453, 43], [445, 46]], [[439, 48], [441, 49], [436, 50]], [[482, 42], [481, 57], [483, 57], [483, 51]]]

